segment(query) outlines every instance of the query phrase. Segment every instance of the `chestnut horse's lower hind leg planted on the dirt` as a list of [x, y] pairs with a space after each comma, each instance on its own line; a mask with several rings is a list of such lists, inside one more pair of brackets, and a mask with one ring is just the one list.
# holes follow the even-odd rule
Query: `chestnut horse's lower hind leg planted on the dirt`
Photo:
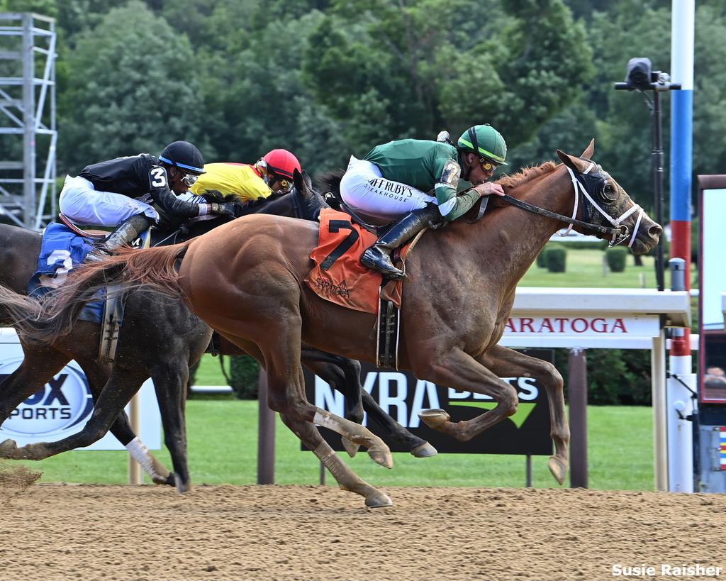
[[340, 460], [340, 457], [335, 454], [333, 448], [322, 439], [322, 436], [320, 436], [319, 431], [313, 424], [306, 421], [293, 420], [282, 413], [280, 414], [280, 418], [285, 423], [285, 426], [290, 428], [302, 440], [303, 444], [309, 447], [314, 455], [319, 458], [323, 466], [330, 471], [330, 474], [333, 474], [340, 488], [365, 497], [365, 505], [369, 508], [380, 508], [393, 504], [388, 496], [367, 482], [364, 482], [354, 471], [348, 468], [343, 460]]

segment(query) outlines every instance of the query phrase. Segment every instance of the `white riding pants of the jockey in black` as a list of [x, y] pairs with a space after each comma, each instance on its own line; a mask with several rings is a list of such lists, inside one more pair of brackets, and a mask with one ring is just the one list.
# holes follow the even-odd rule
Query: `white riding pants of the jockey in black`
[[58, 199], [60, 211], [77, 224], [118, 226], [127, 218], [144, 214], [158, 222], [159, 214], [149, 204], [114, 192], [99, 192], [83, 177], [65, 177]]

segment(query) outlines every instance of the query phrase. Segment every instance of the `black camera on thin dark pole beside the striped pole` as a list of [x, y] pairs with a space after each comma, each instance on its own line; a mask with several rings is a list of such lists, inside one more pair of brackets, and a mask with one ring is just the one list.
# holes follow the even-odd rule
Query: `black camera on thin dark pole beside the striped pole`
[[[656, 222], [663, 224], [663, 137], [661, 131], [661, 99], [664, 91], [673, 91], [681, 88], [680, 83], [671, 83], [668, 73], [653, 70], [650, 59], [646, 57], [632, 58], [628, 61], [625, 82], [615, 83], [617, 91], [638, 91], [645, 97], [645, 103], [653, 120], [653, 198], [656, 210]], [[653, 92], [653, 99], [648, 92]], [[664, 290], [664, 256], [663, 240], [658, 242], [656, 248], [656, 282], [658, 290]]]

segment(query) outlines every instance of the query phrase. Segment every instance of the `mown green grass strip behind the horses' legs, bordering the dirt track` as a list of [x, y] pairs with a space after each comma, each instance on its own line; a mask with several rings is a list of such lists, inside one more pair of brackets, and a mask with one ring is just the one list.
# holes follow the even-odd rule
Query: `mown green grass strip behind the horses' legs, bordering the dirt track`
[[[590, 407], [590, 488], [653, 489], [653, 420], [649, 407]], [[187, 405], [189, 468], [195, 484], [253, 484], [257, 466], [257, 402], [192, 399]], [[479, 437], [486, 437], [483, 434]], [[301, 452], [298, 439], [278, 420], [278, 484], [318, 484], [319, 463]], [[627, 452], [626, 452], [627, 450]], [[155, 455], [171, 467], [166, 449]], [[364, 452], [348, 463], [380, 486], [523, 487], [525, 458], [510, 455], [449, 454], [413, 458], [395, 454], [393, 470], [375, 465]], [[67, 452], [41, 462], [44, 482], [127, 482], [126, 452]], [[547, 458], [532, 460], [534, 487], [555, 487]], [[327, 475], [327, 484], [333, 478]]]

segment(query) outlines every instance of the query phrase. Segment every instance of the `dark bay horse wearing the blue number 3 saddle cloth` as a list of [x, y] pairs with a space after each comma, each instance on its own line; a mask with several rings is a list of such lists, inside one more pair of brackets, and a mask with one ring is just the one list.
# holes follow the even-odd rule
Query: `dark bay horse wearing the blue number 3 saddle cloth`
[[[304, 217], [295, 193], [258, 200], [240, 208], [240, 215], [258, 212]], [[155, 240], [187, 240], [227, 220], [219, 218], [187, 222], [180, 224], [179, 228], [172, 228], [171, 235], [168, 232], [155, 234]], [[0, 225], [0, 264], [4, 265], [0, 272], [0, 284], [17, 293], [25, 292], [27, 281], [36, 269], [40, 242], [38, 232]], [[12, 322], [3, 317], [1, 305], [0, 322]], [[190, 487], [184, 428], [185, 387], [189, 365], [199, 359], [208, 346], [211, 328], [189, 312], [183, 302], [137, 289], [132, 290], [126, 299], [126, 312], [113, 368], [97, 361], [99, 330], [99, 325], [95, 323], [78, 321], [72, 333], [58, 338], [52, 345], [23, 341], [23, 363], [0, 383], [0, 424], [20, 402], [44, 386], [70, 359], [76, 359], [86, 374], [94, 399], [105, 389], [107, 396], [113, 398], [111, 407], [118, 409], [121, 406], [118, 418], [110, 425], [110, 431], [126, 445], [136, 435], [123, 412], [123, 405], [126, 405], [141, 383], [151, 377], [157, 391], [165, 442], [175, 472], [170, 474], [148, 452], [147, 458], [142, 460], [142, 466], [155, 482], [176, 484], [184, 492]], [[219, 343], [219, 350], [222, 354], [244, 354], [239, 347], [224, 339]], [[404, 444], [413, 455], [423, 458], [436, 453], [428, 442], [414, 436], [384, 413], [375, 399], [362, 389], [358, 362], [307, 346], [303, 346], [303, 360], [314, 373], [335, 389], [343, 391], [346, 395], [346, 417], [361, 422], [365, 409], [382, 426], [387, 437]], [[79, 447], [91, 444], [103, 434], [97, 432], [86, 435], [90, 435], [89, 439], [79, 440]], [[344, 443], [348, 451], [354, 453], [352, 444]]]

